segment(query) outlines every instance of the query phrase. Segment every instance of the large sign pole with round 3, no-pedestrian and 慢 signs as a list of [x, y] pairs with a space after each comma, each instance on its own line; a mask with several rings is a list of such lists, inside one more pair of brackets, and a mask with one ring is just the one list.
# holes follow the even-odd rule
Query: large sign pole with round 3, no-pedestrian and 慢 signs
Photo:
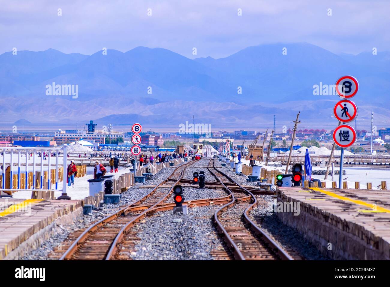
[[[350, 98], [356, 95], [359, 89], [358, 80], [352, 76], [340, 77], [335, 85], [336, 93], [343, 100], [336, 103], [333, 114], [340, 122], [350, 122], [356, 119], [358, 108], [355, 103], [349, 101]], [[371, 132], [372, 135], [372, 132]], [[350, 125], [340, 125], [333, 131], [333, 141], [340, 146], [340, 173], [339, 173], [339, 188], [342, 188], [342, 168], [344, 162], [344, 148], [352, 146], [356, 141], [356, 131]]]

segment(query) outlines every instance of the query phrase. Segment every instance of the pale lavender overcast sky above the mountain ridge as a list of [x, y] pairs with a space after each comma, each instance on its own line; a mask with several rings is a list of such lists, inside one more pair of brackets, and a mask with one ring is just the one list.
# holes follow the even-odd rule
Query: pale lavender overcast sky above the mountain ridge
[[291, 42], [334, 53], [373, 47], [379, 53], [390, 50], [389, 11], [389, 0], [0, 0], [0, 53], [16, 47], [90, 55], [103, 47], [147, 46], [191, 59], [220, 58], [248, 46]]

